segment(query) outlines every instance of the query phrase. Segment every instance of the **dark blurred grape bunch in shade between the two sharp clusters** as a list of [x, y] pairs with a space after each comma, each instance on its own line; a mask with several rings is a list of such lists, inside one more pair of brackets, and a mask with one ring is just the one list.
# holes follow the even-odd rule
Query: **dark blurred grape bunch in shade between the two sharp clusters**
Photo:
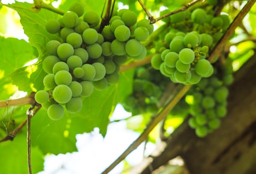
[[139, 67], [135, 72], [133, 92], [121, 104], [132, 115], [157, 112], [159, 99], [169, 82], [159, 71]]

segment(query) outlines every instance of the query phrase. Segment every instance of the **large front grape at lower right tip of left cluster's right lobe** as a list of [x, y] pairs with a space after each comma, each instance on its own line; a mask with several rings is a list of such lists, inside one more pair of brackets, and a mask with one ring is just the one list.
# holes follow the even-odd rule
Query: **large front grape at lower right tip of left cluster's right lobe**
[[138, 56], [142, 52], [142, 44], [135, 39], [131, 39], [125, 44], [125, 51], [129, 56]]

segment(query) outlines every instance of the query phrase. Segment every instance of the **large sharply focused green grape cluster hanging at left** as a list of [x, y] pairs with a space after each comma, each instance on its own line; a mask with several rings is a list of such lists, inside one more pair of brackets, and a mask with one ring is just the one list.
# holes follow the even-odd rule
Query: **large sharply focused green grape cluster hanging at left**
[[100, 17], [93, 11], [84, 12], [80, 2], [73, 2], [63, 17], [47, 21], [45, 28], [59, 34], [62, 43], [50, 40], [47, 57], [42, 62], [47, 75], [47, 88], [37, 91], [35, 100], [47, 109], [48, 116], [58, 120], [82, 108], [81, 97], [94, 89], [103, 90], [119, 81], [119, 67], [127, 58], [142, 59], [146, 48], [141, 44], [153, 32], [146, 19], [137, 22], [133, 11], [121, 9], [109, 25], [98, 32]]

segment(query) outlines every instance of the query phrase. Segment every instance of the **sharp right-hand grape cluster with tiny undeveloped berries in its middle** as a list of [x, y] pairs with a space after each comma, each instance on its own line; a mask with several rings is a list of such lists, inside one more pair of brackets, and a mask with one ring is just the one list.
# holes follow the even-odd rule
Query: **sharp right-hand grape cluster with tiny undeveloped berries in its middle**
[[170, 31], [165, 36], [165, 43], [169, 48], [155, 54], [151, 65], [172, 82], [192, 85], [213, 74], [213, 66], [206, 60], [213, 44], [209, 34]]

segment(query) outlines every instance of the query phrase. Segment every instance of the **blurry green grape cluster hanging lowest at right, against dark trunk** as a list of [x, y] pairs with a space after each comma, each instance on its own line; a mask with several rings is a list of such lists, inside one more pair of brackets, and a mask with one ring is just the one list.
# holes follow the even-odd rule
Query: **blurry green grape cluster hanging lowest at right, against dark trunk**
[[217, 129], [221, 118], [227, 114], [228, 86], [234, 81], [231, 72], [226, 71], [222, 78], [217, 70], [209, 79], [203, 79], [190, 90], [193, 102], [190, 103], [190, 127], [196, 130], [199, 137]]

